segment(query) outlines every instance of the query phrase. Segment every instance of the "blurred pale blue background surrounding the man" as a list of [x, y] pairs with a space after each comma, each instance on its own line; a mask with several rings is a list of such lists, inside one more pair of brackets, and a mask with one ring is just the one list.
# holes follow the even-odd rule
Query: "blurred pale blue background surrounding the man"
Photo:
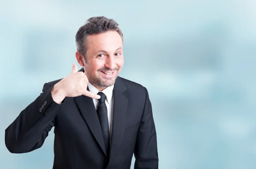
[[0, 168], [52, 168], [53, 130], [40, 149], [11, 154], [5, 129], [45, 82], [70, 73], [76, 31], [102, 15], [124, 34], [120, 76], [148, 89], [159, 168], [255, 168], [255, 9], [255, 0], [1, 0]]

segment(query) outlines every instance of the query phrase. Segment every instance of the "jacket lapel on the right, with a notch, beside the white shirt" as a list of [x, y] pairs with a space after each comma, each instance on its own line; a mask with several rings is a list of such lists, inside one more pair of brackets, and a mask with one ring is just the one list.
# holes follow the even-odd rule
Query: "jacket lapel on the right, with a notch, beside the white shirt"
[[110, 147], [109, 164], [114, 160], [119, 146], [122, 142], [122, 136], [125, 131], [125, 118], [127, 112], [128, 100], [122, 94], [126, 90], [125, 84], [117, 77], [113, 89], [113, 127]]

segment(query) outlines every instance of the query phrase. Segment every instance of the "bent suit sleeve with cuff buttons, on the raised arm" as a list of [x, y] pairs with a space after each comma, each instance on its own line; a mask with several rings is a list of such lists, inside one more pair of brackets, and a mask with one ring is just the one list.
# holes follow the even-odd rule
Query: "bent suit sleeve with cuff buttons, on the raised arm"
[[31, 152], [44, 144], [62, 105], [53, 101], [52, 87], [44, 84], [40, 96], [22, 110], [5, 130], [5, 144], [9, 152]]

